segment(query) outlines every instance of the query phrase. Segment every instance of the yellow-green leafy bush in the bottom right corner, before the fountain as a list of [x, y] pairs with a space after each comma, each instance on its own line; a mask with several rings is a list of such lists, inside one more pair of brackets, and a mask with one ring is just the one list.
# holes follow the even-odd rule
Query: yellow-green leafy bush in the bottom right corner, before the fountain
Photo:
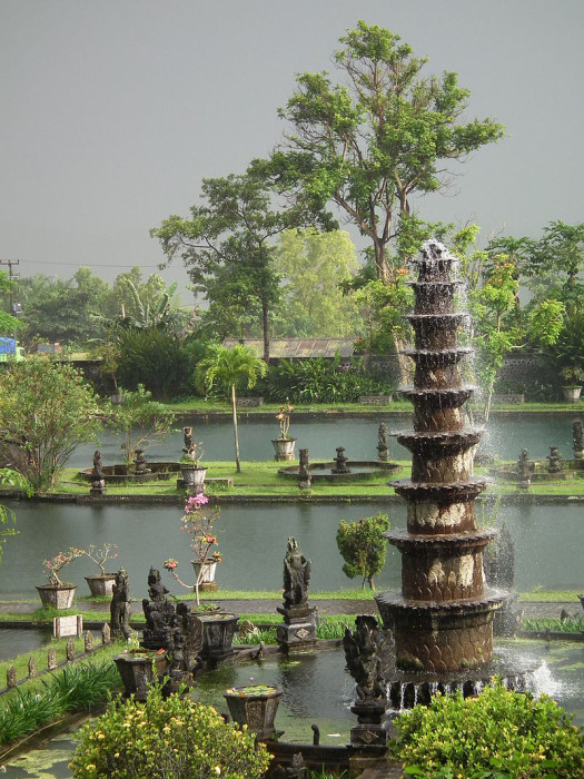
[[396, 720], [393, 747], [406, 772], [434, 777], [584, 776], [584, 737], [547, 696], [497, 680], [477, 698], [437, 696]]

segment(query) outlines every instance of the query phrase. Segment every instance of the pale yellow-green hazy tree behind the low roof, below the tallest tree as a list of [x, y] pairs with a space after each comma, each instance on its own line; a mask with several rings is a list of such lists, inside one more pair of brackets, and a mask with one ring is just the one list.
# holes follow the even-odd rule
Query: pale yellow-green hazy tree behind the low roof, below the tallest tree
[[279, 237], [276, 268], [283, 275], [279, 335], [345, 336], [362, 329], [355, 302], [343, 292], [357, 272], [348, 233], [286, 230]]

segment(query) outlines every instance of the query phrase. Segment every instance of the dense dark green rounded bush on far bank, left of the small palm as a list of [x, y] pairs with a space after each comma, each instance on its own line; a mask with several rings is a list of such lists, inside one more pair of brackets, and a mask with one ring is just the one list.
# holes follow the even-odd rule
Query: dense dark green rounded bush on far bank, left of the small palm
[[152, 397], [169, 401], [187, 388], [192, 368], [184, 342], [160, 327], [118, 329], [117, 379], [128, 389], [143, 385]]

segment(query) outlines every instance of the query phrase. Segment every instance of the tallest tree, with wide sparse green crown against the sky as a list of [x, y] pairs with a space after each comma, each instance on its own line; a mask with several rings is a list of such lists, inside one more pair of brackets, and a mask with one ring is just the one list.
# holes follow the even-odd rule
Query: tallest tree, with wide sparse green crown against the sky
[[340, 38], [333, 61], [345, 83], [326, 72], [301, 73], [280, 109], [286, 142], [254, 168], [334, 225], [334, 204], [370, 239], [377, 276], [389, 282], [386, 249], [410, 214], [410, 198], [442, 189], [451, 160], [498, 140], [492, 119], [465, 122], [469, 91], [454, 72], [423, 77], [426, 58], [414, 57], [399, 36], [363, 20]]

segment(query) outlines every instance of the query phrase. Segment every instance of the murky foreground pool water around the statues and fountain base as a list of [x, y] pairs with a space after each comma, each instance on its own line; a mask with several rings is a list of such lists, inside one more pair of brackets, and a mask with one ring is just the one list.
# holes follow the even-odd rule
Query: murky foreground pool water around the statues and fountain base
[[[551, 696], [574, 714], [575, 723], [584, 724], [584, 644], [505, 641], [497, 645], [512, 647], [519, 654], [544, 661], [532, 682], [532, 690], [537, 696]], [[321, 745], [348, 743], [350, 728], [356, 723], [356, 717], [349, 711], [355, 683], [345, 670], [343, 650], [316, 652], [296, 659], [225, 664], [201, 678], [194, 690], [194, 698], [227, 713], [222, 690], [249, 683], [281, 684], [284, 688], [276, 716], [276, 728], [285, 731], [283, 740], [311, 743], [310, 726], [316, 723]], [[75, 734], [61, 736], [43, 749], [8, 761], [7, 775], [30, 779], [70, 777], [67, 762], [75, 748]]]

